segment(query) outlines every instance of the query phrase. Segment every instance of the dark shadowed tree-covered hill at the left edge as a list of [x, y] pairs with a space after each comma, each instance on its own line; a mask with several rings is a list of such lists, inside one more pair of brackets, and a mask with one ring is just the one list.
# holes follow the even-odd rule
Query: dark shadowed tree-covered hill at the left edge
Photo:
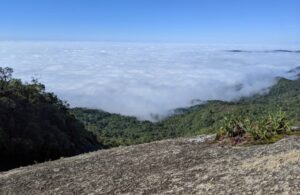
[[103, 148], [66, 102], [0, 67], [0, 170]]

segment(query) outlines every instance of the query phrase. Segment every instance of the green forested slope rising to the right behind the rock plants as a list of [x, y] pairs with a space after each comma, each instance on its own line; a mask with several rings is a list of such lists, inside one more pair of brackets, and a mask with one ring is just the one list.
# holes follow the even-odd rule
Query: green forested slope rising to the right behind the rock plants
[[289, 118], [297, 122], [300, 113], [299, 91], [299, 79], [292, 81], [281, 78], [264, 95], [254, 95], [236, 102], [208, 101], [186, 109], [181, 115], [171, 116], [161, 123], [175, 131], [183, 129], [184, 132], [214, 132], [227, 114], [255, 119], [279, 109], [286, 111]]

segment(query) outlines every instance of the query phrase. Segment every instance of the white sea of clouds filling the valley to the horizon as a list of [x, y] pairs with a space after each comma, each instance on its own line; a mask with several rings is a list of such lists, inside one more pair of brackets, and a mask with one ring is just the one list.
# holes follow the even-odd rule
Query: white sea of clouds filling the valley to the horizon
[[[247, 52], [229, 50], [242, 49]], [[0, 66], [38, 78], [72, 107], [151, 119], [197, 100], [235, 100], [300, 66], [296, 46], [0, 42]], [[268, 52], [265, 52], [268, 51]]]

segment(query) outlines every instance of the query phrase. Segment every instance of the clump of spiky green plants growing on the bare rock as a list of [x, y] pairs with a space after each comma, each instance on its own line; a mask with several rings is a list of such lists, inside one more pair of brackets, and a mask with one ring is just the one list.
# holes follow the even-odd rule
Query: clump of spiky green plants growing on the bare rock
[[[248, 117], [226, 116], [217, 133], [217, 139], [251, 137], [252, 141], [269, 141], [290, 132], [290, 122], [285, 112], [269, 113], [266, 116], [250, 120]], [[244, 139], [240, 139], [244, 140]]]

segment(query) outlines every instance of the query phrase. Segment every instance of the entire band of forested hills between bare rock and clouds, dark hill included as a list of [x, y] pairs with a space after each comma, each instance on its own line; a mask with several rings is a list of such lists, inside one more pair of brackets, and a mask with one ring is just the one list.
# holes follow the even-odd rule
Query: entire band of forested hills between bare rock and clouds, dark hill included
[[[298, 73], [298, 69], [293, 71]], [[176, 109], [158, 122], [95, 109], [70, 109], [36, 80], [14, 79], [9, 68], [0, 69], [0, 89], [0, 170], [97, 149], [215, 133], [228, 115], [256, 121], [281, 109], [296, 124], [300, 113], [300, 79], [280, 78], [264, 94], [235, 102], [208, 101]]]

